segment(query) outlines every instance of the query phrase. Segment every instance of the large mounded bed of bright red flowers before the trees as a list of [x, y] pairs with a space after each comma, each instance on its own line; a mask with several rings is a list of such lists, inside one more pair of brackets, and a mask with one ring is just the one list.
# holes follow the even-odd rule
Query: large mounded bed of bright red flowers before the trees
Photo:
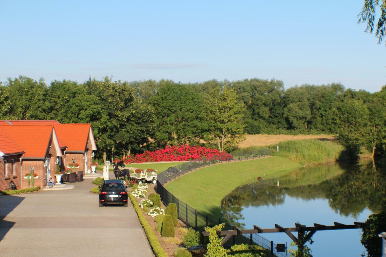
[[[154, 152], [146, 151], [143, 154], [136, 154], [122, 159], [125, 164], [132, 162], [171, 162], [171, 161], [193, 161], [207, 157], [207, 161], [215, 159], [217, 161], [228, 161], [233, 158], [232, 154], [227, 152], [219, 152], [217, 149], [210, 149], [201, 146], [167, 146], [163, 150], [156, 150]], [[120, 160], [116, 160], [120, 161]]]

